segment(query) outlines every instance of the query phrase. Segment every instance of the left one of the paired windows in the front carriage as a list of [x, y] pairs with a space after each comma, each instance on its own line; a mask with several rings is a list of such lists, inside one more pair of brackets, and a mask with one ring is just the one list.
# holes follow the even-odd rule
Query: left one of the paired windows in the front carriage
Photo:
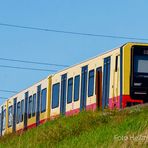
[[73, 78], [68, 79], [67, 103], [72, 102]]

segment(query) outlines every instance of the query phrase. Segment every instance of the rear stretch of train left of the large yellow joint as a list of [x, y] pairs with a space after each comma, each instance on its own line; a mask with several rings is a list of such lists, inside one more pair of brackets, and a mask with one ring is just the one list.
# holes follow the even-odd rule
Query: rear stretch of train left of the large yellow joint
[[3, 106], [7, 106], [7, 124], [2, 135], [36, 127], [50, 118], [50, 83], [49, 76], [6, 101]]

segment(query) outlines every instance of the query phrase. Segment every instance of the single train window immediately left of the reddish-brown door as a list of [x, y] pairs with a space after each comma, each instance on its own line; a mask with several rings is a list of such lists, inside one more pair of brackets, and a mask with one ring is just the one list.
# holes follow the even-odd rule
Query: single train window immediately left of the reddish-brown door
[[88, 97], [94, 94], [94, 70], [89, 71]]

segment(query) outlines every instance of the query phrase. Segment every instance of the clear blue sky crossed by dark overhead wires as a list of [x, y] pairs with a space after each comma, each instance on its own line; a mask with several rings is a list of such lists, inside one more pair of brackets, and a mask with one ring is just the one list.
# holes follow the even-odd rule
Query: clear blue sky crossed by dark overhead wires
[[[0, 0], [0, 23], [148, 38], [147, 6], [147, 0]], [[0, 26], [0, 58], [73, 65], [130, 41], [139, 40]], [[63, 69], [2, 60], [0, 65]], [[0, 90], [21, 91], [49, 74], [51, 73], [47, 71], [0, 67]], [[0, 97], [12, 95], [13, 93], [0, 91]], [[0, 99], [0, 104], [2, 102], [4, 100]]]

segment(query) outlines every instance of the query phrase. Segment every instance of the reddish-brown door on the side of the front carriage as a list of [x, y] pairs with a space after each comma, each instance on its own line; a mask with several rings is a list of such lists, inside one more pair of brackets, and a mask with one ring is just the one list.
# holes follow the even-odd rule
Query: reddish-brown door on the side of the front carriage
[[102, 107], [102, 67], [96, 69], [96, 103]]

